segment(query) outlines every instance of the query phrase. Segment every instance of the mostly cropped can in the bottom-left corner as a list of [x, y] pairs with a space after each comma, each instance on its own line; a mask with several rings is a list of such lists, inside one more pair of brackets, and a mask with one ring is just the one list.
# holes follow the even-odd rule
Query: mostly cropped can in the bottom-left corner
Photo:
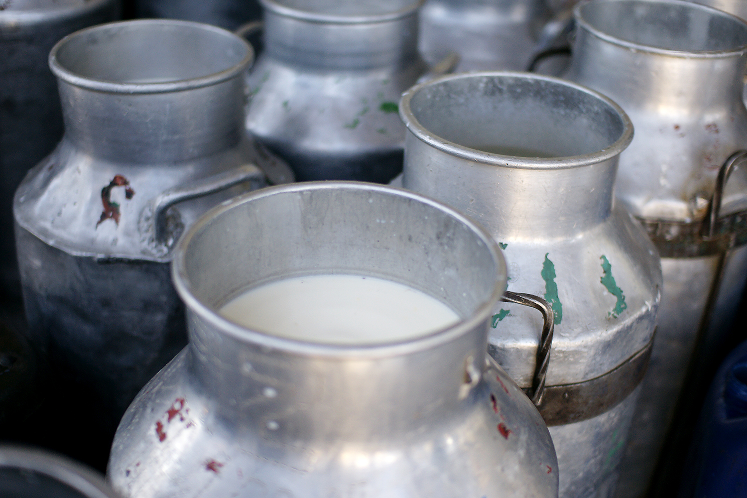
[[118, 498], [102, 476], [53, 453], [0, 446], [0, 496], [15, 498]]

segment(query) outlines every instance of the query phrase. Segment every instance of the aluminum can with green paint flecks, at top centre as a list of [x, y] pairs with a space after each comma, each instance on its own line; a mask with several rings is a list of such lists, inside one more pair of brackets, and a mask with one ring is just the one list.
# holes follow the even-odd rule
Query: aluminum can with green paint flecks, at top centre
[[428, 71], [418, 55], [424, 0], [261, 1], [264, 52], [248, 78], [248, 130], [299, 180], [394, 178], [405, 136], [397, 102]]

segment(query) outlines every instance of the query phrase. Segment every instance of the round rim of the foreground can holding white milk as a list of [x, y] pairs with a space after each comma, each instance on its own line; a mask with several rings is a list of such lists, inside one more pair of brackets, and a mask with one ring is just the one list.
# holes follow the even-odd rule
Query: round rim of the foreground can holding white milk
[[[307, 181], [303, 183], [293, 183], [277, 185], [274, 187], [266, 187], [261, 190], [254, 190], [252, 192], [244, 193], [241, 196], [234, 197], [229, 201], [223, 202], [223, 204], [217, 205], [210, 211], [202, 215], [190, 228], [182, 235], [179, 243], [174, 250], [174, 256], [171, 264], [171, 278], [176, 287], [176, 292], [185, 302], [187, 309], [193, 313], [199, 315], [202, 320], [214, 326], [216, 329], [223, 333], [230, 334], [232, 337], [240, 341], [249, 340], [258, 346], [270, 347], [273, 349], [279, 349], [285, 352], [293, 352], [302, 355], [316, 355], [324, 357], [334, 358], [350, 358], [350, 357], [365, 357], [365, 358], [382, 358], [394, 355], [406, 355], [412, 352], [423, 351], [426, 349], [432, 349], [433, 347], [439, 346], [444, 343], [449, 343], [457, 337], [462, 337], [464, 334], [468, 334], [471, 330], [476, 329], [480, 324], [486, 324], [492, 314], [492, 308], [496, 302], [500, 300], [500, 296], [503, 295], [503, 287], [505, 281], [501, 284], [500, 278], [498, 278], [493, 287], [493, 291], [486, 301], [480, 303], [477, 306], [477, 310], [468, 317], [466, 320], [459, 321], [453, 326], [448, 326], [444, 329], [439, 329], [430, 334], [413, 337], [411, 339], [394, 341], [390, 343], [373, 343], [373, 344], [327, 344], [327, 343], [314, 343], [303, 340], [291, 339], [286, 337], [278, 337], [263, 332], [254, 331], [245, 327], [239, 326], [226, 318], [223, 318], [216, 311], [211, 310], [207, 305], [204, 305], [196, 296], [192, 293], [190, 288], [189, 279], [185, 269], [185, 255], [186, 249], [190, 240], [208, 225], [212, 220], [219, 217], [226, 211], [230, 211], [236, 208], [238, 205], [242, 205], [246, 202], [250, 202], [253, 199], [260, 199], [262, 197], [279, 195], [288, 192], [299, 192], [305, 190], [335, 190], [335, 189], [349, 189], [349, 190], [379, 190], [388, 193], [395, 193], [400, 196], [409, 197], [420, 202], [424, 202], [431, 205], [433, 208], [439, 211], [449, 214], [451, 217], [456, 218], [460, 222], [468, 225], [471, 230], [477, 234], [480, 239], [485, 243], [486, 249], [488, 249], [493, 256], [493, 261], [496, 262], [497, 275], [503, 275], [503, 279], [506, 278], [506, 260], [503, 258], [503, 253], [498, 248], [498, 243], [486, 228], [483, 228], [474, 220], [471, 220], [461, 212], [448, 205], [438, 202], [436, 199], [424, 196], [419, 193], [412, 192], [410, 190], [400, 189], [397, 187], [390, 187], [388, 185], [370, 184], [362, 181]], [[486, 349], [487, 351], [487, 349]]]

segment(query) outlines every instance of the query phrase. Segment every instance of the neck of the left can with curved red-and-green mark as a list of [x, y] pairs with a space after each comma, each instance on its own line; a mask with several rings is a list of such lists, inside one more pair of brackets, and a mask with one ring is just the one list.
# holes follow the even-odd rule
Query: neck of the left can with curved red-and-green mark
[[240, 77], [164, 93], [105, 93], [59, 82], [65, 137], [88, 155], [125, 164], [204, 158], [241, 140]]

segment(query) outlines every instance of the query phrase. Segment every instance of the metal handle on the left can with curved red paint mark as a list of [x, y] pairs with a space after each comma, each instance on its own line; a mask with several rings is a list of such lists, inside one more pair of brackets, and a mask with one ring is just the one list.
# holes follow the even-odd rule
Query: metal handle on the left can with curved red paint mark
[[[200, 178], [196, 181], [174, 187], [155, 196], [150, 202], [152, 212], [152, 223], [155, 231], [155, 243], [166, 245], [168, 243], [168, 219], [167, 211], [179, 202], [185, 202], [196, 197], [207, 196], [211, 193], [226, 190], [235, 185], [252, 181], [259, 183], [264, 181], [264, 172], [254, 164], [244, 164], [238, 168], [218, 173], [217, 175]], [[255, 190], [252, 188], [252, 190]]]

